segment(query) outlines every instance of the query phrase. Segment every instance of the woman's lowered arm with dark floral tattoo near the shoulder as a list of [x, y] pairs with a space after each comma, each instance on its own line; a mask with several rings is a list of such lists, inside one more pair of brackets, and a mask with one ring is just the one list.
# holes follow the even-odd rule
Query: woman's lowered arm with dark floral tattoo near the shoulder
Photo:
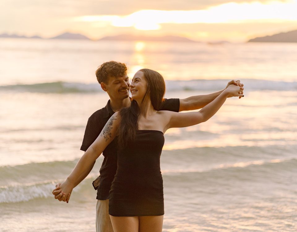
[[120, 117], [115, 113], [105, 124], [103, 130], [93, 144], [86, 150], [84, 155], [75, 165], [67, 179], [60, 185], [62, 197], [58, 200], [69, 200], [72, 189], [78, 185], [78, 181], [82, 181], [92, 170], [96, 159], [101, 155], [104, 149], [117, 135]]

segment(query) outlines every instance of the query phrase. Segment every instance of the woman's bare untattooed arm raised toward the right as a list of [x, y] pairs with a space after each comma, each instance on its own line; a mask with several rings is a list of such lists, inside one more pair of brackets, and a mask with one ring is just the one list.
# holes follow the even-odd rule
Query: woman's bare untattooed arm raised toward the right
[[205, 105], [198, 112], [176, 113], [166, 111], [166, 114], [168, 114], [168, 123], [164, 131], [172, 127], [189, 127], [207, 121], [215, 113], [217, 113], [226, 101], [227, 97], [242, 97], [242, 94], [239, 94], [239, 91], [240, 86], [238, 85], [232, 84], [228, 86], [228, 88], [222, 91], [218, 97], [209, 104]]

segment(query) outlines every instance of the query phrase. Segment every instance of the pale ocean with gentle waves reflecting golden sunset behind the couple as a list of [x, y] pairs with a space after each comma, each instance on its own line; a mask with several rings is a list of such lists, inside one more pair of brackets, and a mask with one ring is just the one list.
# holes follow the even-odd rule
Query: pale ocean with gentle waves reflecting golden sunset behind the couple
[[69, 204], [55, 200], [108, 95], [95, 71], [166, 79], [166, 98], [244, 84], [207, 122], [173, 128], [161, 155], [164, 232], [297, 231], [297, 44], [0, 40], [0, 231], [95, 231], [100, 156]]

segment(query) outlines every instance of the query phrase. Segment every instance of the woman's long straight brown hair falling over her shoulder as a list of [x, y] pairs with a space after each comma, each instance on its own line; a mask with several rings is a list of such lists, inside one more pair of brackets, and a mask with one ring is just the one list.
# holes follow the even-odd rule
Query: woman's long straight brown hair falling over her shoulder
[[147, 90], [138, 106], [135, 100], [131, 101], [131, 106], [120, 110], [121, 122], [118, 129], [119, 148], [126, 147], [128, 142], [135, 139], [138, 130], [138, 121], [142, 112], [142, 107], [148, 94], [155, 110], [160, 110], [163, 96], [165, 94], [165, 81], [160, 73], [151, 69], [140, 69], [147, 81]]

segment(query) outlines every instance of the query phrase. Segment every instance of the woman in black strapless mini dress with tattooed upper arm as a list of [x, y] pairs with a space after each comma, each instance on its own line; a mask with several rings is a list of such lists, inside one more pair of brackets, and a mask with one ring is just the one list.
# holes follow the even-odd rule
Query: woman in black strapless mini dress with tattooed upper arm
[[84, 167], [92, 164], [117, 137], [118, 168], [109, 201], [114, 232], [162, 231], [164, 199], [160, 155], [163, 134], [172, 127], [188, 127], [207, 121], [227, 97], [242, 97], [239, 94], [241, 87], [230, 85], [199, 112], [190, 113], [157, 111], [165, 93], [165, 82], [156, 71], [138, 71], [130, 91], [131, 107], [120, 110], [109, 119], [60, 189], [64, 193], [63, 200], [68, 200], [75, 179], [84, 172]]

